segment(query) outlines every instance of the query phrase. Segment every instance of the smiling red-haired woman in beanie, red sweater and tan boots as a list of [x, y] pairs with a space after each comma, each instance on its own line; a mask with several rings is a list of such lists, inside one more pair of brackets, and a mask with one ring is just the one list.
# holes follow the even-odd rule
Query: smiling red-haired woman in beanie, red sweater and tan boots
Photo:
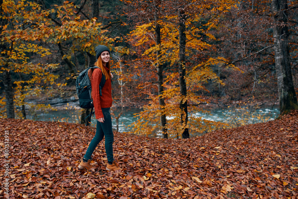
[[[111, 78], [113, 77], [110, 72], [110, 50], [104, 45], [98, 45], [95, 48], [97, 62], [91, 76], [91, 87], [92, 87], [92, 98], [95, 109], [95, 116], [97, 119], [96, 133], [94, 138], [91, 140], [86, 154], [82, 158], [79, 169], [86, 168], [91, 169], [90, 161], [92, 160], [91, 155], [94, 152], [97, 144], [105, 137], [105, 152], [107, 154], [108, 165], [106, 170], [115, 171], [121, 169], [113, 156], [113, 141], [114, 134], [112, 131], [112, 120], [110, 114], [110, 108], [112, 106], [112, 87]], [[103, 86], [101, 92], [102, 96], [99, 94], [99, 84], [102, 78], [102, 72], [105, 75], [105, 85]]]

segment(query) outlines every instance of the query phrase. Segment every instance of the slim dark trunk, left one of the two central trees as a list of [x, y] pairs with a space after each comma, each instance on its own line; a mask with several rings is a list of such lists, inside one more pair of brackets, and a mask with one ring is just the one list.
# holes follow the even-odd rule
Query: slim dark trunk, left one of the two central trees
[[[157, 20], [157, 15], [155, 13], [155, 21]], [[158, 23], [156, 23], [156, 27], [155, 27], [155, 36], [156, 36], [156, 45], [161, 45], [161, 38], [160, 38], [160, 25]], [[156, 51], [156, 60], [157, 60], [157, 85], [158, 85], [158, 100], [159, 100], [159, 108], [162, 111], [162, 114], [160, 115], [160, 125], [162, 126], [162, 135], [163, 138], [168, 138], [168, 134], [167, 134], [167, 120], [166, 120], [166, 115], [164, 114], [164, 107], [165, 107], [165, 103], [164, 103], [164, 98], [161, 97], [161, 95], [164, 92], [164, 87], [163, 87], [163, 68], [162, 68], [162, 64], [159, 63], [159, 56], [160, 56], [160, 50]]]

